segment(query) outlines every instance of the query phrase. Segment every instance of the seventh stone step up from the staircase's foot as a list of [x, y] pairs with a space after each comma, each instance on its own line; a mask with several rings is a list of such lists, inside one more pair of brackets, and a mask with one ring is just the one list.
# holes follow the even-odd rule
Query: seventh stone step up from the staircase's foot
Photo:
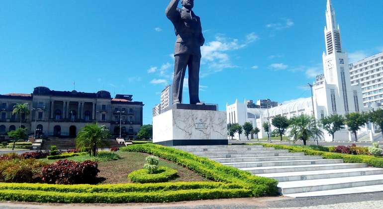
[[211, 155], [197, 155], [200, 157], [207, 157], [211, 160], [219, 158], [252, 158], [252, 157], [267, 157], [267, 156], [304, 156], [303, 152], [265, 152], [257, 154], [211, 154]]

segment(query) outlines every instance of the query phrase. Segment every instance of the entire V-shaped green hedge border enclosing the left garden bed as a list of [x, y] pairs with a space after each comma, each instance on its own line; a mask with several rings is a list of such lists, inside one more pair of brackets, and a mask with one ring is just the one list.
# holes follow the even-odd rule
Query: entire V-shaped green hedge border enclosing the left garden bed
[[[121, 149], [120, 149], [121, 151]], [[215, 182], [176, 182], [113, 185], [49, 185], [0, 183], [0, 200], [57, 203], [158, 203], [278, 195], [274, 179], [223, 166], [207, 158], [155, 144], [122, 147], [183, 165]]]

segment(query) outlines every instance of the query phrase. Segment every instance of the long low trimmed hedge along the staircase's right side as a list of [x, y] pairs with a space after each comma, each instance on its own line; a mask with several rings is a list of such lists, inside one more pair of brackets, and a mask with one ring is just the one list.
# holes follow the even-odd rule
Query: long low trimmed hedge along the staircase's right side
[[302, 149], [287, 145], [266, 144], [266, 143], [246, 143], [251, 145], [263, 145], [264, 147], [274, 147], [275, 149], [288, 149], [289, 152], [303, 152], [305, 155], [321, 155], [323, 159], [341, 159], [345, 163], [366, 163], [368, 166], [383, 168], [383, 158], [372, 155], [350, 155], [332, 152], [315, 151]]

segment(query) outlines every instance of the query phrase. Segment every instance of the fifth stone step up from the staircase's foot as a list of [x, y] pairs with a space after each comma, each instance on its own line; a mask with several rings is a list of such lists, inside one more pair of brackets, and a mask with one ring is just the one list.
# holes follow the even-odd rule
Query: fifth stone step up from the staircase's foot
[[271, 167], [271, 166], [295, 166], [295, 165], [321, 165], [343, 163], [343, 160], [318, 159], [318, 160], [283, 160], [283, 161], [265, 161], [265, 162], [242, 162], [242, 163], [222, 163], [222, 165], [232, 166], [235, 168], [251, 168], [251, 167]]

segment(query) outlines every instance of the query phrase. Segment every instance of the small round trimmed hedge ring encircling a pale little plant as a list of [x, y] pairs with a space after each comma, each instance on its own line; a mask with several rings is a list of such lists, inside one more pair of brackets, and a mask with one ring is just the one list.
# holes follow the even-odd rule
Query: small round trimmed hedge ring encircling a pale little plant
[[158, 167], [156, 173], [149, 174], [146, 169], [139, 169], [128, 175], [130, 181], [134, 183], [158, 183], [168, 182], [177, 177], [177, 171], [165, 166]]

